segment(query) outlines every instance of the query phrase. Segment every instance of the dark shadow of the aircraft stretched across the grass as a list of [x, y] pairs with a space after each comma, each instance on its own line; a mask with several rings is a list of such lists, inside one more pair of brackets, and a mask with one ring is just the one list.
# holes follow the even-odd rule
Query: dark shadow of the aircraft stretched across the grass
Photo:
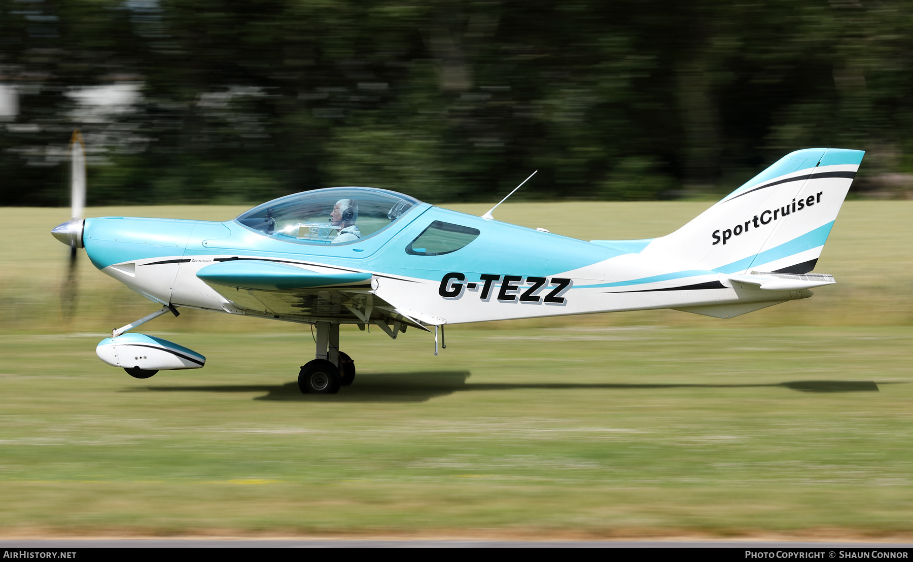
[[255, 400], [420, 402], [468, 390], [665, 390], [776, 388], [800, 392], [877, 392], [874, 380], [792, 380], [767, 384], [624, 384], [624, 383], [498, 383], [467, 384], [467, 370], [359, 374], [354, 384], [339, 394], [301, 394], [296, 381], [285, 384], [151, 386], [133, 391], [154, 392], [266, 392]]

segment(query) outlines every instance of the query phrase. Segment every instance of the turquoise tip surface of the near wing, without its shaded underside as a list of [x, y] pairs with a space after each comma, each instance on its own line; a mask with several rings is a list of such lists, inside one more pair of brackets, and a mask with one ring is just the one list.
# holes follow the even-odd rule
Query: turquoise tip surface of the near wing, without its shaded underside
[[316, 287], [370, 288], [370, 273], [344, 271], [319, 273], [296, 265], [261, 260], [238, 259], [206, 265], [196, 273], [206, 283], [262, 291], [288, 291]]

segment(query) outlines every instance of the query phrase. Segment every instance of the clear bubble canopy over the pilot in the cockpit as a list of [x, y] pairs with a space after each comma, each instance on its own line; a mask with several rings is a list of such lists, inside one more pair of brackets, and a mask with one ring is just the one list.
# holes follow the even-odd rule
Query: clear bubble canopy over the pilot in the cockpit
[[331, 187], [292, 193], [235, 219], [260, 234], [301, 244], [345, 244], [393, 224], [419, 200], [373, 187]]

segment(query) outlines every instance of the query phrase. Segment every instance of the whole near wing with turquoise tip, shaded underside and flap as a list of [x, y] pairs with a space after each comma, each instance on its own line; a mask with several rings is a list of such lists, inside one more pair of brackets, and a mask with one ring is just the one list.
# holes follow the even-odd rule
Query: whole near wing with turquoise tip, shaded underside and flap
[[396, 329], [405, 326], [430, 331], [374, 295], [370, 272], [317, 271], [297, 264], [242, 258], [206, 265], [196, 276], [248, 314], [302, 322], [375, 324], [392, 338]]

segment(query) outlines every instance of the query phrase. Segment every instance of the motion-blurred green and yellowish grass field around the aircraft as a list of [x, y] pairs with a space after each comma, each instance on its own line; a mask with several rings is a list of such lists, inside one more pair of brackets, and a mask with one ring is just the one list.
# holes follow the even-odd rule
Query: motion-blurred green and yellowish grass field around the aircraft
[[[498, 218], [639, 238], [707, 206], [585, 203], [593, 225], [572, 224], [580, 204]], [[846, 203], [817, 268], [838, 285], [729, 321], [456, 326], [438, 357], [413, 330], [343, 328], [355, 384], [305, 396], [313, 344], [287, 323], [188, 311], [143, 331], [205, 369], [102, 364], [103, 332], [153, 307], [83, 260], [64, 325], [47, 232], [66, 212], [2, 209], [0, 536], [911, 536], [910, 216]]]

